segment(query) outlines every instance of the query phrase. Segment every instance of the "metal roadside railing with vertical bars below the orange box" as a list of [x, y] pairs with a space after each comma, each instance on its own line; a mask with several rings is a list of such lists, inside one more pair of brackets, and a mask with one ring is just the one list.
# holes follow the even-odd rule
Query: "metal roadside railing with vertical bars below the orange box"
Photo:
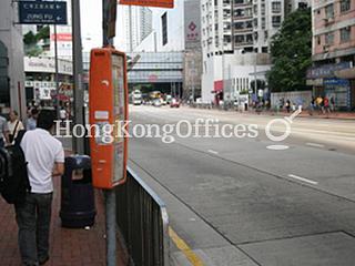
[[126, 183], [116, 188], [116, 219], [131, 262], [166, 266], [170, 241], [165, 204], [130, 167], [126, 174]]

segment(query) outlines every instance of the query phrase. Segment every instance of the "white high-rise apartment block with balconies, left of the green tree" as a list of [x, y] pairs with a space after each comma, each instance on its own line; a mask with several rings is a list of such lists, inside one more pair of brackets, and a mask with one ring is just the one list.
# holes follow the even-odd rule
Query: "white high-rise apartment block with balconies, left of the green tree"
[[270, 45], [285, 16], [310, 0], [201, 0], [202, 98], [205, 102], [266, 94], [251, 83], [265, 80]]

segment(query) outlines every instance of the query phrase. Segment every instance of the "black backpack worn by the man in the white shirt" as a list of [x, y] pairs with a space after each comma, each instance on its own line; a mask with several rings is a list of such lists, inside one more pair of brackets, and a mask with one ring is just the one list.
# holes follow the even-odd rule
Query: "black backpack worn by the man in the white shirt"
[[22, 204], [26, 193], [31, 192], [27, 162], [20, 142], [24, 132], [13, 145], [0, 149], [0, 193], [9, 204]]

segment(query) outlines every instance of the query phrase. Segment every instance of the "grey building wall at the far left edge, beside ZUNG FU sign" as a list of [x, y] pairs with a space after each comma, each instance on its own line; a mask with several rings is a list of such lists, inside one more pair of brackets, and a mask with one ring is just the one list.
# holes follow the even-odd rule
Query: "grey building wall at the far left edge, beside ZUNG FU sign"
[[[26, 116], [22, 29], [13, 1], [0, 2], [0, 105]], [[2, 110], [4, 111], [4, 110]], [[6, 111], [9, 111], [7, 109]]]

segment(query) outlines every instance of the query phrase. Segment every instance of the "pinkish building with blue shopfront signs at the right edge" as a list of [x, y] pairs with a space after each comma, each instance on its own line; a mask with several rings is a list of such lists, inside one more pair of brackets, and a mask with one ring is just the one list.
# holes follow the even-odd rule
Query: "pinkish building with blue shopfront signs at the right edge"
[[355, 0], [314, 0], [313, 68], [307, 82], [314, 96], [335, 100], [338, 110], [355, 108]]

